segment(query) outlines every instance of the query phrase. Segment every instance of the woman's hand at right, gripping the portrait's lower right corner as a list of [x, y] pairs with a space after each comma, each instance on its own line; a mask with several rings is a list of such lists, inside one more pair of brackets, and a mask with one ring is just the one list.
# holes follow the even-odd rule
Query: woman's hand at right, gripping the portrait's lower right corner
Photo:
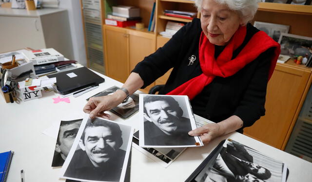
[[189, 132], [190, 136], [200, 136], [200, 139], [204, 144], [208, 144], [214, 138], [223, 135], [223, 131], [220, 125], [216, 123], [209, 123], [202, 127], [196, 128]]

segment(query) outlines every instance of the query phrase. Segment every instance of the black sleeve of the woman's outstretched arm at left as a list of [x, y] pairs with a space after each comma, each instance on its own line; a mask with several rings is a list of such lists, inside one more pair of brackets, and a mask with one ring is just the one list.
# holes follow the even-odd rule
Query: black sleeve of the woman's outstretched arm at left
[[[197, 22], [198, 20], [196, 20]], [[138, 73], [144, 81], [144, 85], [141, 89], [144, 89], [157, 78], [165, 74], [169, 69], [173, 68], [175, 64], [178, 64], [178, 55], [181, 52], [183, 41], [187, 36], [190, 36], [188, 32], [194, 27], [195, 20], [187, 23], [180, 28], [179, 31], [161, 48], [139, 62], [137, 66], [132, 70], [134, 73]]]

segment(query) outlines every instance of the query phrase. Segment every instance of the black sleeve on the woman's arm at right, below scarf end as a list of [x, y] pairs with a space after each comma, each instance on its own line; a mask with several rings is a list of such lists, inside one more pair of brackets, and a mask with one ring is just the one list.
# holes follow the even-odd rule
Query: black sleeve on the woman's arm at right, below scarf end
[[243, 120], [243, 127], [250, 127], [260, 116], [265, 114], [265, 98], [269, 77], [271, 59], [275, 48], [270, 48], [259, 55], [256, 71], [248, 84], [248, 87], [236, 108], [234, 115]]

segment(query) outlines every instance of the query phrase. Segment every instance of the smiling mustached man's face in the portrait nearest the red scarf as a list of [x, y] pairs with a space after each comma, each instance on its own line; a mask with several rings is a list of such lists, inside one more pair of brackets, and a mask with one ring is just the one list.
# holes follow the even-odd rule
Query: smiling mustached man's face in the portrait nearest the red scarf
[[180, 108], [174, 108], [164, 100], [145, 103], [144, 107], [147, 112], [145, 118], [153, 122], [159, 129], [166, 134], [176, 131], [179, 117], [181, 117], [178, 112]]

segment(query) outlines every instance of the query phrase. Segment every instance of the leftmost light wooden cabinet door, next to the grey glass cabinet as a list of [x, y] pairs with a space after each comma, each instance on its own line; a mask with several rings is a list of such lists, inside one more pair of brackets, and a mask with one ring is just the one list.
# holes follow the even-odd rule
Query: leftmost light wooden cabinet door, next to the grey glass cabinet
[[104, 43], [106, 75], [124, 83], [129, 76], [127, 31], [105, 25]]

